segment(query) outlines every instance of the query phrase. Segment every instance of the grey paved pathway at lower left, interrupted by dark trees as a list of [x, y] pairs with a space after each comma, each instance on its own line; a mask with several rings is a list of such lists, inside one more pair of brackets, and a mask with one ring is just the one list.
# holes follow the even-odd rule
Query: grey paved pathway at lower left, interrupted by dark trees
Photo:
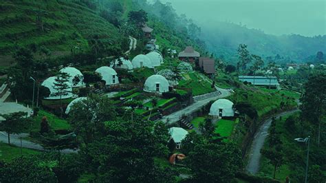
[[[28, 133], [19, 133], [19, 134], [11, 134], [10, 135], [10, 144], [13, 144], [17, 147], [24, 147], [28, 149], [35, 149], [39, 151], [47, 151], [47, 149], [44, 149], [40, 144], [36, 144], [34, 142], [31, 142], [29, 140], [24, 140], [21, 138], [28, 137]], [[8, 135], [6, 132], [0, 131], [0, 142], [8, 144]], [[63, 149], [61, 150], [62, 153], [77, 153], [78, 151], [74, 151], [73, 149]]]

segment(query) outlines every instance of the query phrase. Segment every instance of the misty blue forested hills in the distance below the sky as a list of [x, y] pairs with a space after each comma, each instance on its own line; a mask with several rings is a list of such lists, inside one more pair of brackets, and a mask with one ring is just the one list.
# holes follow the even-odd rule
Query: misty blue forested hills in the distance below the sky
[[[264, 58], [274, 58], [279, 54], [278, 63], [306, 62], [316, 57], [318, 51], [326, 52], [326, 35], [305, 37], [297, 34], [274, 36], [265, 34], [261, 30], [246, 28], [243, 25], [228, 22], [215, 22], [200, 25], [202, 39], [208, 49], [216, 56], [224, 57], [228, 61], [236, 62], [236, 52], [239, 44], [248, 45], [252, 54]], [[309, 57], [309, 58], [308, 58]]]

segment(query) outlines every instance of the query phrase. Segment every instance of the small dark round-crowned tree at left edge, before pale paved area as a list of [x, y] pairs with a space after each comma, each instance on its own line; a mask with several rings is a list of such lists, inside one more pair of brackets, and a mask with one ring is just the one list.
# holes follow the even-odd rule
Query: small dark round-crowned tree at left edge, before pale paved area
[[8, 134], [8, 144], [10, 144], [10, 134], [19, 133], [28, 125], [28, 120], [25, 118], [27, 114], [25, 112], [15, 112], [0, 116], [5, 118], [5, 120], [0, 122], [0, 129], [6, 131]]

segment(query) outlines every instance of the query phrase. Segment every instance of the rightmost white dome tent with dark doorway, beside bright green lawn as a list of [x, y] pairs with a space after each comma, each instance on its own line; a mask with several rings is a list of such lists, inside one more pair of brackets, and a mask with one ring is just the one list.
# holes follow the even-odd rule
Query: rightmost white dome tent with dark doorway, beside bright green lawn
[[210, 116], [218, 117], [232, 117], [235, 116], [235, 111], [233, 110], [233, 103], [227, 99], [216, 100], [210, 106]]

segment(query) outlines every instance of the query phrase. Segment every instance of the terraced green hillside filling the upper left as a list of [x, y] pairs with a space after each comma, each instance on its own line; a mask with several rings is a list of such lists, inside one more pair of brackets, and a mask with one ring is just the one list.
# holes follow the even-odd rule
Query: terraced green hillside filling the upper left
[[[129, 6], [124, 3], [124, 8]], [[92, 39], [125, 47], [127, 38], [100, 17], [98, 9], [89, 7], [67, 1], [3, 1], [0, 3], [0, 53], [12, 54], [17, 45], [45, 46], [52, 55], [59, 56], [91, 49]]]

